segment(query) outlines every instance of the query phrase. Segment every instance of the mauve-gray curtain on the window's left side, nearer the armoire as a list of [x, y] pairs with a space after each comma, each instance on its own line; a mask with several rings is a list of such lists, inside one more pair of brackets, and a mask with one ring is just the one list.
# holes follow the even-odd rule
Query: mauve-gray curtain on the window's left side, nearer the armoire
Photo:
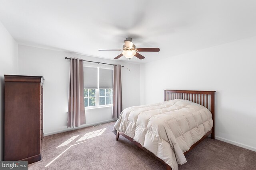
[[84, 110], [84, 63], [70, 59], [70, 85], [68, 97], [68, 127], [85, 124]]

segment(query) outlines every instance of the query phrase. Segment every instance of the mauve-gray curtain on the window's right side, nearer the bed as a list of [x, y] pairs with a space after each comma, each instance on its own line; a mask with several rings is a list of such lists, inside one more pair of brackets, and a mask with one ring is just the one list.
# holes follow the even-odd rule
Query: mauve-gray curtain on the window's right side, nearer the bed
[[114, 66], [113, 81], [113, 118], [118, 118], [122, 112], [122, 84], [121, 84], [121, 65]]

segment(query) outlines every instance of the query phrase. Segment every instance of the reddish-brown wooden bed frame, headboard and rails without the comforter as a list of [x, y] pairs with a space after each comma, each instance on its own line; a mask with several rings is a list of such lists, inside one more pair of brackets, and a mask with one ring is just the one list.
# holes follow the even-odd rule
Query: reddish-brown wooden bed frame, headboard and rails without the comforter
[[[212, 120], [213, 120], [212, 129], [208, 133], [206, 133], [206, 135], [204, 135], [199, 141], [194, 143], [194, 145], [192, 145], [188, 151], [184, 152], [184, 154], [188, 153], [191, 149], [193, 149], [196, 145], [198, 145], [201, 141], [203, 141], [209, 135], [211, 135], [211, 139], [215, 139], [215, 137], [214, 137], [214, 92], [215, 91], [164, 90], [164, 101], [174, 100], [174, 99], [190, 100], [192, 102], [195, 102], [197, 104], [200, 104], [200, 105], [208, 108], [210, 110], [210, 112], [212, 113]], [[122, 135], [123, 137], [125, 137], [126, 139], [128, 139], [129, 141], [134, 143], [136, 146], [140, 147], [141, 149], [145, 150], [147, 153], [154, 156], [156, 159], [163, 162], [166, 165], [166, 170], [172, 170], [172, 168], [168, 164], [166, 164], [166, 162], [164, 162], [162, 159], [155, 156], [149, 150], [142, 147], [142, 145], [140, 145], [140, 143], [134, 141], [131, 137], [128, 137], [127, 135], [125, 135], [122, 132], [117, 133], [115, 131], [114, 133], [116, 134], [116, 141], [118, 141], [119, 135]]]

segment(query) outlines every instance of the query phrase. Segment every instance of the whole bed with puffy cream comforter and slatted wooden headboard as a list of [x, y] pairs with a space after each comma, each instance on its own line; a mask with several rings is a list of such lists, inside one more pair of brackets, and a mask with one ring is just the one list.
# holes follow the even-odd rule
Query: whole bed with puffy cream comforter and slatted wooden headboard
[[186, 154], [203, 139], [214, 139], [214, 92], [164, 90], [164, 102], [128, 107], [114, 125], [119, 135], [178, 170]]

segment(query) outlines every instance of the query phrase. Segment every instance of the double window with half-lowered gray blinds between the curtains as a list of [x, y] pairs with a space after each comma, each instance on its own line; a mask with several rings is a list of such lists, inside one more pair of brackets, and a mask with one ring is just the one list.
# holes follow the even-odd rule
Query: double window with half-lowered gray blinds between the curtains
[[84, 107], [113, 104], [113, 69], [84, 66]]

